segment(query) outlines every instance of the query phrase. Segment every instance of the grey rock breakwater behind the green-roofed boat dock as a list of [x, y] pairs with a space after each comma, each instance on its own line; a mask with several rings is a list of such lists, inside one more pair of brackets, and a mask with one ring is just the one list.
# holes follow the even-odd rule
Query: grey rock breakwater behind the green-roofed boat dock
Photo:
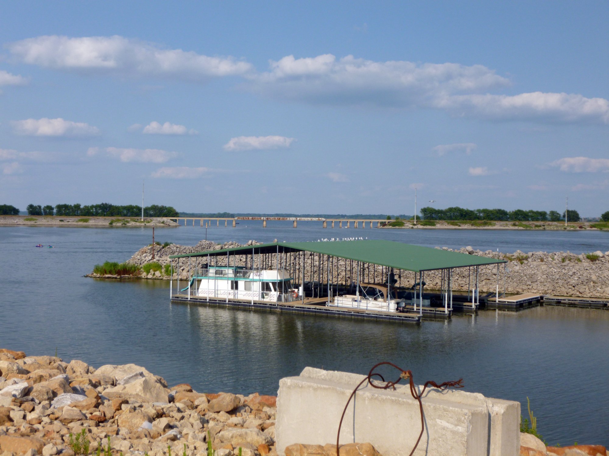
[[[191, 254], [194, 252], [204, 252], [206, 250], [227, 249], [231, 247], [239, 247], [242, 245], [253, 246], [260, 244], [257, 241], [248, 241], [247, 244], [239, 244], [236, 242], [228, 242], [225, 244], [216, 244], [211, 241], [200, 241], [195, 246], [179, 246], [171, 244], [169, 246], [154, 246], [155, 259], [154, 261], [164, 266], [169, 264], [170, 255]], [[436, 247], [440, 248], [440, 247]], [[507, 269], [503, 266], [499, 267], [499, 289], [503, 291], [505, 279], [505, 291], [510, 294], [519, 294], [523, 292], [532, 292], [546, 295], [557, 295], [567, 297], [586, 297], [586, 298], [607, 298], [609, 297], [609, 252], [590, 252], [575, 254], [572, 252], [521, 252], [517, 250], [513, 253], [493, 252], [492, 250], [474, 250], [472, 247], [463, 247], [462, 249], [453, 250], [447, 247], [442, 247], [444, 250], [460, 252], [462, 254], [477, 255], [480, 257], [496, 258], [507, 261]], [[152, 262], [152, 246], [139, 249], [128, 261], [130, 264], [144, 266]], [[275, 255], [269, 255], [270, 263], [275, 264]], [[234, 258], [231, 258], [233, 261]], [[201, 261], [201, 260], [199, 260]], [[226, 258], [217, 258], [218, 264], [226, 264]], [[311, 280], [311, 265], [316, 261], [312, 254], [305, 252], [305, 280]], [[244, 266], [245, 260], [242, 257], [236, 257], [236, 264]], [[317, 264], [317, 263], [315, 263]], [[174, 261], [174, 267], [177, 263]], [[255, 266], [258, 266], [255, 263]], [[339, 283], [345, 283], [350, 280], [350, 262], [347, 260], [339, 260], [337, 268]], [[382, 268], [381, 266], [364, 264], [364, 269], [370, 271], [370, 277], [375, 277], [376, 283], [382, 283]], [[471, 272], [471, 275], [470, 275]], [[180, 262], [180, 279], [188, 278], [188, 261]], [[368, 274], [368, 272], [367, 272]], [[480, 269], [479, 286], [481, 291], [495, 291], [497, 284], [497, 268], [496, 266], [483, 266]], [[313, 280], [317, 280], [317, 272], [315, 272]], [[398, 286], [410, 287], [415, 281], [414, 272], [400, 271], [396, 272]], [[91, 274], [91, 277], [100, 277]], [[169, 279], [169, 274], [161, 270], [150, 271], [143, 273], [142, 278], [157, 278]], [[174, 271], [174, 278], [178, 277], [178, 272]], [[336, 280], [336, 279], [335, 279]], [[424, 280], [426, 288], [440, 288], [440, 272], [429, 271], [425, 273]], [[473, 288], [474, 277], [473, 269], [468, 268], [454, 269], [453, 289], [456, 291], [467, 291], [468, 288]]]

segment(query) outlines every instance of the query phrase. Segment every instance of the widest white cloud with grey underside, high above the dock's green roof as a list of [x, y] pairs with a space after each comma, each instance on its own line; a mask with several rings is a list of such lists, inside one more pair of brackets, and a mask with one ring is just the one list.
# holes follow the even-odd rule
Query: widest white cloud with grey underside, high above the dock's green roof
[[250, 88], [310, 103], [412, 107], [430, 106], [438, 96], [509, 85], [509, 80], [482, 65], [376, 62], [324, 54], [270, 61], [270, 71], [254, 76]]

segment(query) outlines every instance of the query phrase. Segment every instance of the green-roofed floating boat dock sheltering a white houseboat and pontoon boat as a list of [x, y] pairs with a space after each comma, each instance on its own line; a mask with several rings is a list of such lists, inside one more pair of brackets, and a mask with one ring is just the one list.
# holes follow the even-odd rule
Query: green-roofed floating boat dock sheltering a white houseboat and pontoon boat
[[[275, 242], [170, 259], [172, 302], [415, 324], [450, 319], [457, 306], [475, 313], [480, 305], [479, 267], [496, 264], [498, 293], [499, 265], [506, 263], [382, 240]], [[474, 268], [468, 295], [472, 302], [453, 302], [452, 271], [456, 268]], [[174, 271], [178, 271], [177, 280]], [[180, 288], [185, 271], [188, 280]], [[426, 271], [441, 275], [434, 306], [424, 299]], [[403, 288], [396, 287], [402, 272], [414, 272], [415, 283], [407, 297], [401, 294]]]

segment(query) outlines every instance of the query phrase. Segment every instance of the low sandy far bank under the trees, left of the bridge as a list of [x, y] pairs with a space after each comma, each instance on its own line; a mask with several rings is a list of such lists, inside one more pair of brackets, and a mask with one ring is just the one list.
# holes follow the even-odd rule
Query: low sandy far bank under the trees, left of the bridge
[[135, 228], [155, 227], [174, 228], [179, 225], [174, 221], [146, 217], [142, 221], [137, 217], [99, 217], [99, 216], [58, 216], [58, 215], [0, 215], [1, 226], [52, 226], [52, 227], [104, 227]]

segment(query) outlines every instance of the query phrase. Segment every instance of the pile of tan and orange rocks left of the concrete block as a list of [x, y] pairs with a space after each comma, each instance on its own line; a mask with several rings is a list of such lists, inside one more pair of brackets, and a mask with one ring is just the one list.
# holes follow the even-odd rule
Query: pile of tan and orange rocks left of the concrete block
[[275, 413], [275, 396], [199, 393], [135, 364], [0, 349], [2, 456], [73, 456], [80, 435], [91, 454], [203, 455], [211, 444], [217, 456], [273, 456]]

